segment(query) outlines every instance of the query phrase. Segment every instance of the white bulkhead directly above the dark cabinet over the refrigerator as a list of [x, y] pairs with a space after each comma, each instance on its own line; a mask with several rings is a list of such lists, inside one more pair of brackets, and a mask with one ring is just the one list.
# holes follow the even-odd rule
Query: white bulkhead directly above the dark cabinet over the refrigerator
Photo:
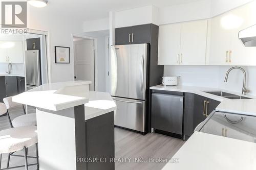
[[115, 28], [154, 23], [158, 25], [158, 9], [152, 5], [115, 12]]

